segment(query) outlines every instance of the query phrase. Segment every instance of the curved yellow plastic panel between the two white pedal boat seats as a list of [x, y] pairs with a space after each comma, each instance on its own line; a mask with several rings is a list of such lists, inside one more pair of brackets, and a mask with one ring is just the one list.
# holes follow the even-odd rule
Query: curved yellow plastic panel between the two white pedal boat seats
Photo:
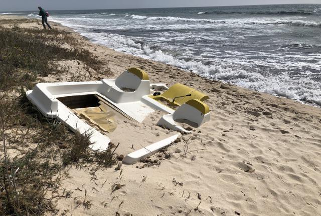
[[203, 94], [202, 92], [199, 92], [195, 89], [192, 89], [192, 88], [185, 86], [183, 84], [180, 84], [180, 83], [177, 83], [177, 84], [171, 86], [168, 90], [166, 90], [162, 94], [162, 96], [169, 98], [169, 99], [174, 99], [175, 97], [184, 96], [184, 95], [188, 95], [188, 94], [191, 94], [191, 96], [180, 97], [180, 98], [175, 99], [175, 101], [182, 105], [191, 99], [198, 99], [200, 101], [205, 101], [205, 100], [209, 99], [209, 96], [207, 96], [206, 94]]

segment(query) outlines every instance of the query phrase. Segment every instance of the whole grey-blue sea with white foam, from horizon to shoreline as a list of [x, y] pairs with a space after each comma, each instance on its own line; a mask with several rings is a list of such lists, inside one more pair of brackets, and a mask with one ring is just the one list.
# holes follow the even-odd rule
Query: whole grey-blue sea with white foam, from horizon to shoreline
[[46, 10], [114, 50], [321, 106], [321, 5]]

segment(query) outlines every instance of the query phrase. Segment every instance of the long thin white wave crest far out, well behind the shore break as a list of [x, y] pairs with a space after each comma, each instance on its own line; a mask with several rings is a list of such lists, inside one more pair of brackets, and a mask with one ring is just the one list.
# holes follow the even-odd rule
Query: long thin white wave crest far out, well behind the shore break
[[308, 26], [321, 27], [321, 22], [308, 22], [302, 20], [209, 20], [209, 19], [193, 19], [180, 17], [146, 17], [139, 15], [131, 15], [131, 19], [147, 20], [147, 21], [171, 21], [171, 22], [195, 22], [195, 23], [213, 23], [213, 24], [244, 24], [244, 25], [294, 25], [294, 26]]

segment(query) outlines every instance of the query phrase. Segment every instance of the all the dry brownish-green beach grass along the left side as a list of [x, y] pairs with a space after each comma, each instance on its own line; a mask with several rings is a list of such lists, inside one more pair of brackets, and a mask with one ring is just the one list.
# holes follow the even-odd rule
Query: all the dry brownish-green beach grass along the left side
[[0, 215], [55, 212], [53, 198], [70, 194], [58, 193], [66, 166], [86, 163], [94, 174], [115, 164], [110, 149], [89, 150], [89, 135], [43, 116], [25, 94], [42, 77], [61, 73], [59, 60], [79, 60], [99, 71], [101, 61], [88, 50], [60, 46], [76, 43], [64, 31], [0, 28]]

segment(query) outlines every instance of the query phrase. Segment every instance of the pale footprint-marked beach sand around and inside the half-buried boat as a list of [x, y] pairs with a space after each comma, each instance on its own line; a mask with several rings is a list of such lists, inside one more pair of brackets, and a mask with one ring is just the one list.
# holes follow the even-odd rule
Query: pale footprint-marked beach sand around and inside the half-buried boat
[[[20, 26], [42, 28], [37, 23]], [[58, 24], [52, 27], [72, 31]], [[211, 121], [185, 136], [191, 151], [186, 157], [182, 156], [186, 143], [181, 141], [152, 156], [162, 158], [159, 165], [123, 165], [121, 174], [104, 169], [96, 172], [96, 179], [90, 170], [68, 169], [70, 177], [63, 181], [61, 193], [64, 188], [73, 193], [57, 199], [58, 215], [321, 215], [320, 108], [206, 80], [73, 34], [81, 41], [79, 47], [109, 62], [113, 77], [137, 67], [149, 74], [151, 82], [169, 86], [179, 82], [206, 92]], [[74, 80], [69, 75], [47, 81]], [[102, 78], [106, 77], [92, 72], [85, 80]], [[130, 136], [126, 130], [113, 134], [115, 143], [120, 142], [117, 152], [128, 153], [132, 145], [140, 148], [139, 140], [148, 144], [172, 134], [155, 125], [159, 116], [128, 126]], [[112, 192], [118, 183], [123, 186]], [[90, 209], [76, 203], [85, 190]]]

